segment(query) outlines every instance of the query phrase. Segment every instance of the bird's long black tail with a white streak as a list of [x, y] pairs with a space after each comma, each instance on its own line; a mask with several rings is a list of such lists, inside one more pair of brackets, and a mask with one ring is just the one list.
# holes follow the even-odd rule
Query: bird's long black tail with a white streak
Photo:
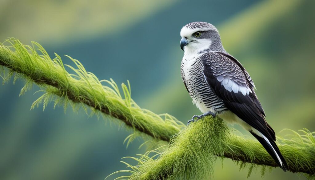
[[278, 146], [272, 138], [267, 138], [263, 134], [259, 135], [250, 131], [250, 133], [261, 143], [261, 145], [267, 150], [271, 157], [276, 161], [276, 163], [283, 169], [284, 172], [289, 170], [288, 164], [285, 161], [284, 157], [280, 153]]

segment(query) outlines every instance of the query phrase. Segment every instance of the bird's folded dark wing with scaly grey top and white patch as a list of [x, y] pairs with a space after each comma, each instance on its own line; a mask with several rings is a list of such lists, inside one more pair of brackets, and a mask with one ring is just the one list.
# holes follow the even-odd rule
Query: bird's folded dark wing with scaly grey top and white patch
[[[204, 78], [225, 106], [263, 135], [275, 139], [254, 87], [238, 62], [220, 53], [202, 55]], [[248, 74], [248, 73], [247, 73]]]

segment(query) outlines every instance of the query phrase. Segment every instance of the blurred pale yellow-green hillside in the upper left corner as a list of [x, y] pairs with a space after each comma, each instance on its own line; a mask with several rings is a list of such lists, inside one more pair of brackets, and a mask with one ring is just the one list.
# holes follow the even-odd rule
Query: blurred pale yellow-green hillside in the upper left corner
[[175, 0], [1, 0], [0, 39], [64, 43], [67, 39], [87, 40], [95, 33], [121, 33], [126, 26], [174, 3]]

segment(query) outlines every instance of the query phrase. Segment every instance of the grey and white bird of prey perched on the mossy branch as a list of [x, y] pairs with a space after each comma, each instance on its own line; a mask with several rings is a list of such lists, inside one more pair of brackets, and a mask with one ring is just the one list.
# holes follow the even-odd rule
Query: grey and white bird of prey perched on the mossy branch
[[266, 122], [255, 94], [254, 82], [241, 63], [223, 48], [215, 26], [192, 22], [181, 29], [180, 36], [180, 48], [184, 51], [181, 77], [192, 102], [203, 113], [193, 116], [188, 124], [207, 115], [238, 123], [287, 171], [287, 162], [275, 143], [275, 132]]

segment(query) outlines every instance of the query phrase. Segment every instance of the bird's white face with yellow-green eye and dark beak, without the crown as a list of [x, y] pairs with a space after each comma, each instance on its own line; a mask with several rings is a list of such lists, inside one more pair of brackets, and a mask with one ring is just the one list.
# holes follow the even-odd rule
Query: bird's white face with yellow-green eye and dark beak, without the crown
[[194, 28], [183, 27], [180, 31], [182, 37], [180, 47], [185, 54], [197, 54], [202, 52], [212, 44], [211, 38], [207, 36], [209, 28]]

